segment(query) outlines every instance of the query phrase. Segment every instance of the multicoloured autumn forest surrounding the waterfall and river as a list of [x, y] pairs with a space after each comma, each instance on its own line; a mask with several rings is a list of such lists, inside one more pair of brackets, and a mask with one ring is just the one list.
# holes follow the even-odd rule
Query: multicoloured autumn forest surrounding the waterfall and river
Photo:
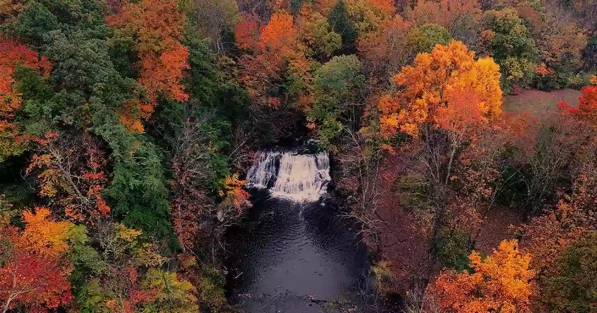
[[239, 312], [313, 139], [402, 311], [597, 312], [596, 71], [596, 0], [0, 0], [0, 308]]

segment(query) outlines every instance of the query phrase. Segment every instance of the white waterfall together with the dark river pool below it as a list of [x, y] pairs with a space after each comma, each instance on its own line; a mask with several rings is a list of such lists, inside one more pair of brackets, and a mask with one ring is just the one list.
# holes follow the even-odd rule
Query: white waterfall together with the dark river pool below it
[[327, 191], [327, 153], [263, 153], [254, 206], [227, 232], [229, 300], [246, 313], [378, 312], [359, 224]]

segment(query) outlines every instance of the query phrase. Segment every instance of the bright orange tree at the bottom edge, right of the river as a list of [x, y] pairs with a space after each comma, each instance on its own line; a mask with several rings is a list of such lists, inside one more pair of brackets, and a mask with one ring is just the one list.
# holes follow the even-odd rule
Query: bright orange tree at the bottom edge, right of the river
[[428, 295], [444, 312], [530, 312], [531, 258], [522, 254], [518, 243], [504, 240], [497, 250], [481, 261], [472, 252], [469, 256], [473, 273], [444, 271], [428, 287]]

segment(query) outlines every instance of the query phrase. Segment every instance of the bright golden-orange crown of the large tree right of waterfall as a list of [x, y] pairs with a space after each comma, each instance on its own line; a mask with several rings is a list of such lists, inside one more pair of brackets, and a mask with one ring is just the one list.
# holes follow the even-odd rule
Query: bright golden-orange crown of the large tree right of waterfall
[[[417, 55], [414, 65], [402, 67], [394, 78], [401, 91], [381, 97], [378, 103], [386, 135], [405, 132], [417, 137], [424, 123], [456, 130], [488, 122], [501, 112], [499, 66], [491, 58], [475, 60], [475, 52], [458, 41]], [[478, 118], [466, 123], [445, 121], [447, 113], [463, 115], [454, 114], [458, 112]]]

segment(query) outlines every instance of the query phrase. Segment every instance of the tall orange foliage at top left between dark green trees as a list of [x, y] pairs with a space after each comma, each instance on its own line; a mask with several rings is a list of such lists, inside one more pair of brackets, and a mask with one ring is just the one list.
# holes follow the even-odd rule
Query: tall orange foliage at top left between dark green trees
[[107, 23], [133, 36], [139, 53], [139, 83], [147, 89], [147, 103], [129, 101], [119, 113], [128, 131], [143, 132], [140, 120], [153, 113], [158, 95], [176, 101], [189, 96], [180, 83], [189, 68], [189, 51], [180, 40], [183, 37], [184, 13], [177, 1], [125, 1], [118, 14], [108, 16]]

